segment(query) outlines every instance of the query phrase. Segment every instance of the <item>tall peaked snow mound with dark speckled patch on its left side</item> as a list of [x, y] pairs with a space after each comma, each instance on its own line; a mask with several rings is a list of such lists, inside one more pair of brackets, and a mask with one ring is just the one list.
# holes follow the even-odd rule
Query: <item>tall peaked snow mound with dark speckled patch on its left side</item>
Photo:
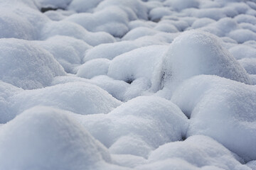
[[220, 40], [198, 30], [179, 35], [160, 66], [158, 84], [169, 88], [176, 88], [183, 80], [198, 74], [215, 74], [251, 84], [245, 69], [222, 47]]

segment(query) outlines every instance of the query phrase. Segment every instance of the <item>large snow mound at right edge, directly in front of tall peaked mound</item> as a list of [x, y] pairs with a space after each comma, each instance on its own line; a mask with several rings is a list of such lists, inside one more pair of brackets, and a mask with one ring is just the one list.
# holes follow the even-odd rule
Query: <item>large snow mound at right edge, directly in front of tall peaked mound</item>
[[171, 101], [191, 118], [187, 136], [207, 135], [245, 161], [255, 154], [255, 86], [201, 75], [184, 81]]

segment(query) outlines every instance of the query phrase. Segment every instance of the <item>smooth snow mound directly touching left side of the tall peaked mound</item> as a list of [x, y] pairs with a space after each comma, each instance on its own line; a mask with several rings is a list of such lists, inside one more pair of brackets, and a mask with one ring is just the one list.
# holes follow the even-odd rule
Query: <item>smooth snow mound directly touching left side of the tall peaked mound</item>
[[150, 80], [155, 64], [166, 50], [166, 45], [150, 45], [126, 52], [112, 60], [107, 75], [130, 83], [140, 77]]

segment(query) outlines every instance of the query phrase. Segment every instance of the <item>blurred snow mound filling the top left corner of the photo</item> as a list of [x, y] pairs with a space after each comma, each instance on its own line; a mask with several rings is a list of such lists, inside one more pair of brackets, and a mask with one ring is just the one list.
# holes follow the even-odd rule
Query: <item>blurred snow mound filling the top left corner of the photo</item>
[[[20, 1], [15, 4], [0, 2], [0, 38], [19, 38], [23, 40], [37, 40], [41, 28], [48, 18], [36, 9], [29, 8]], [[5, 8], [4, 8], [5, 7]]]

